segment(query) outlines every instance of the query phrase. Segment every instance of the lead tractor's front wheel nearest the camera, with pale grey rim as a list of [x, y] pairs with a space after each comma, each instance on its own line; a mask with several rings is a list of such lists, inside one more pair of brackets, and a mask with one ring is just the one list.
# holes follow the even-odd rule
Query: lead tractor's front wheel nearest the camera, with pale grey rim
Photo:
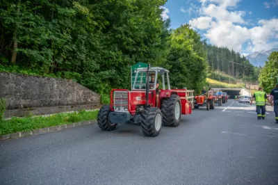
[[141, 128], [145, 136], [156, 137], [162, 127], [162, 113], [159, 108], [147, 107], [141, 115]]

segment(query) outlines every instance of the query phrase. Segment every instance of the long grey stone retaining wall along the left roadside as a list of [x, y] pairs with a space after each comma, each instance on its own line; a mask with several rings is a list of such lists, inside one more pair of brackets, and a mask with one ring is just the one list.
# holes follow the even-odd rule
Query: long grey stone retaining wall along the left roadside
[[100, 104], [100, 96], [72, 80], [0, 72], [7, 109]]

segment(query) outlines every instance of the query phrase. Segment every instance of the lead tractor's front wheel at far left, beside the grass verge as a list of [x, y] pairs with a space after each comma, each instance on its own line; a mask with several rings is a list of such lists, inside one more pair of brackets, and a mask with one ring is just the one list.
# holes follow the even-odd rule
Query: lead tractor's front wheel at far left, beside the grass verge
[[116, 129], [117, 124], [112, 124], [109, 121], [109, 113], [111, 112], [109, 105], [104, 105], [100, 108], [99, 114], [97, 115], [97, 124], [99, 128], [104, 131], [113, 131]]

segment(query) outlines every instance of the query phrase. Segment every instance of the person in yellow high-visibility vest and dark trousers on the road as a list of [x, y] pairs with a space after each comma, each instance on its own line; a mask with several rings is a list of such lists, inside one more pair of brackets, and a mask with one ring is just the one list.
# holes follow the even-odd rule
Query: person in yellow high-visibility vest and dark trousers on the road
[[263, 92], [263, 88], [259, 88], [259, 91], [256, 91], [253, 95], [253, 98], [251, 99], [250, 105], [252, 105], [252, 102], [256, 101], [256, 114], [258, 117], [258, 120], [261, 120], [261, 118], [264, 120], [265, 119], [265, 104], [266, 100], [270, 102], [268, 99], [268, 96], [266, 95], [265, 92]]

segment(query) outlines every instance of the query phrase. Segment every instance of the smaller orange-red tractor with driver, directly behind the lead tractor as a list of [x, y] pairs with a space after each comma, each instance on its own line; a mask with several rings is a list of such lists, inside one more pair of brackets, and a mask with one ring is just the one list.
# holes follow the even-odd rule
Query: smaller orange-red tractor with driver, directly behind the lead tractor
[[206, 110], [214, 109], [216, 97], [213, 95], [212, 90], [208, 90], [207, 95], [195, 96], [195, 108], [206, 105]]

